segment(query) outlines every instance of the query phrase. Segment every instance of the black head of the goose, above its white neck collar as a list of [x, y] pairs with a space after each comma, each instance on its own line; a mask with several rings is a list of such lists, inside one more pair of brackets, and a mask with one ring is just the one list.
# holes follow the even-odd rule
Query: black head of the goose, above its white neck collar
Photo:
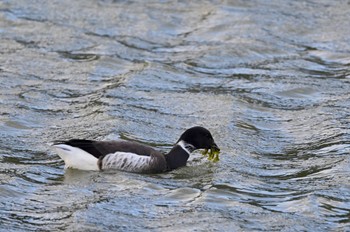
[[195, 126], [186, 130], [180, 137], [179, 141], [183, 140], [195, 147], [195, 149], [211, 149], [218, 146], [215, 144], [213, 136], [210, 131], [204, 127]]

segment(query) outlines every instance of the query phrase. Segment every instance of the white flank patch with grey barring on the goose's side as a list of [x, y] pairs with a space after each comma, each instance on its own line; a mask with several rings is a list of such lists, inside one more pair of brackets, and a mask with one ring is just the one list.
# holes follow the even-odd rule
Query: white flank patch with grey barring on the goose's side
[[128, 172], [146, 172], [150, 169], [153, 158], [130, 152], [115, 152], [102, 160], [102, 169], [118, 169]]

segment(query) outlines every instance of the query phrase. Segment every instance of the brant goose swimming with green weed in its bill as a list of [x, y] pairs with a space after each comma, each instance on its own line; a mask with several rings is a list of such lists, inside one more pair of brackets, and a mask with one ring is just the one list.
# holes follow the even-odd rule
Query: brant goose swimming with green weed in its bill
[[200, 126], [186, 130], [168, 154], [131, 141], [93, 141], [72, 139], [53, 144], [64, 160], [65, 168], [81, 170], [117, 169], [137, 173], [159, 173], [186, 165], [196, 149], [209, 152], [209, 160], [218, 160], [220, 152], [211, 133]]

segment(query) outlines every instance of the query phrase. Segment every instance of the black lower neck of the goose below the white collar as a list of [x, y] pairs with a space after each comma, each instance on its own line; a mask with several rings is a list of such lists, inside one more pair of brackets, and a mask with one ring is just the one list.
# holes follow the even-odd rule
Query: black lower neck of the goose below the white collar
[[175, 145], [171, 151], [165, 155], [168, 171], [186, 166], [190, 154], [180, 145]]

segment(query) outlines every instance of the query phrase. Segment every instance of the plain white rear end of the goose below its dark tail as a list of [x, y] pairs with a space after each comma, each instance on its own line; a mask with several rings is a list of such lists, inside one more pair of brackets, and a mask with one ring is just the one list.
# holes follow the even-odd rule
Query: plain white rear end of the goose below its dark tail
[[58, 155], [64, 160], [65, 168], [80, 170], [99, 170], [98, 159], [86, 151], [66, 144], [53, 145]]

